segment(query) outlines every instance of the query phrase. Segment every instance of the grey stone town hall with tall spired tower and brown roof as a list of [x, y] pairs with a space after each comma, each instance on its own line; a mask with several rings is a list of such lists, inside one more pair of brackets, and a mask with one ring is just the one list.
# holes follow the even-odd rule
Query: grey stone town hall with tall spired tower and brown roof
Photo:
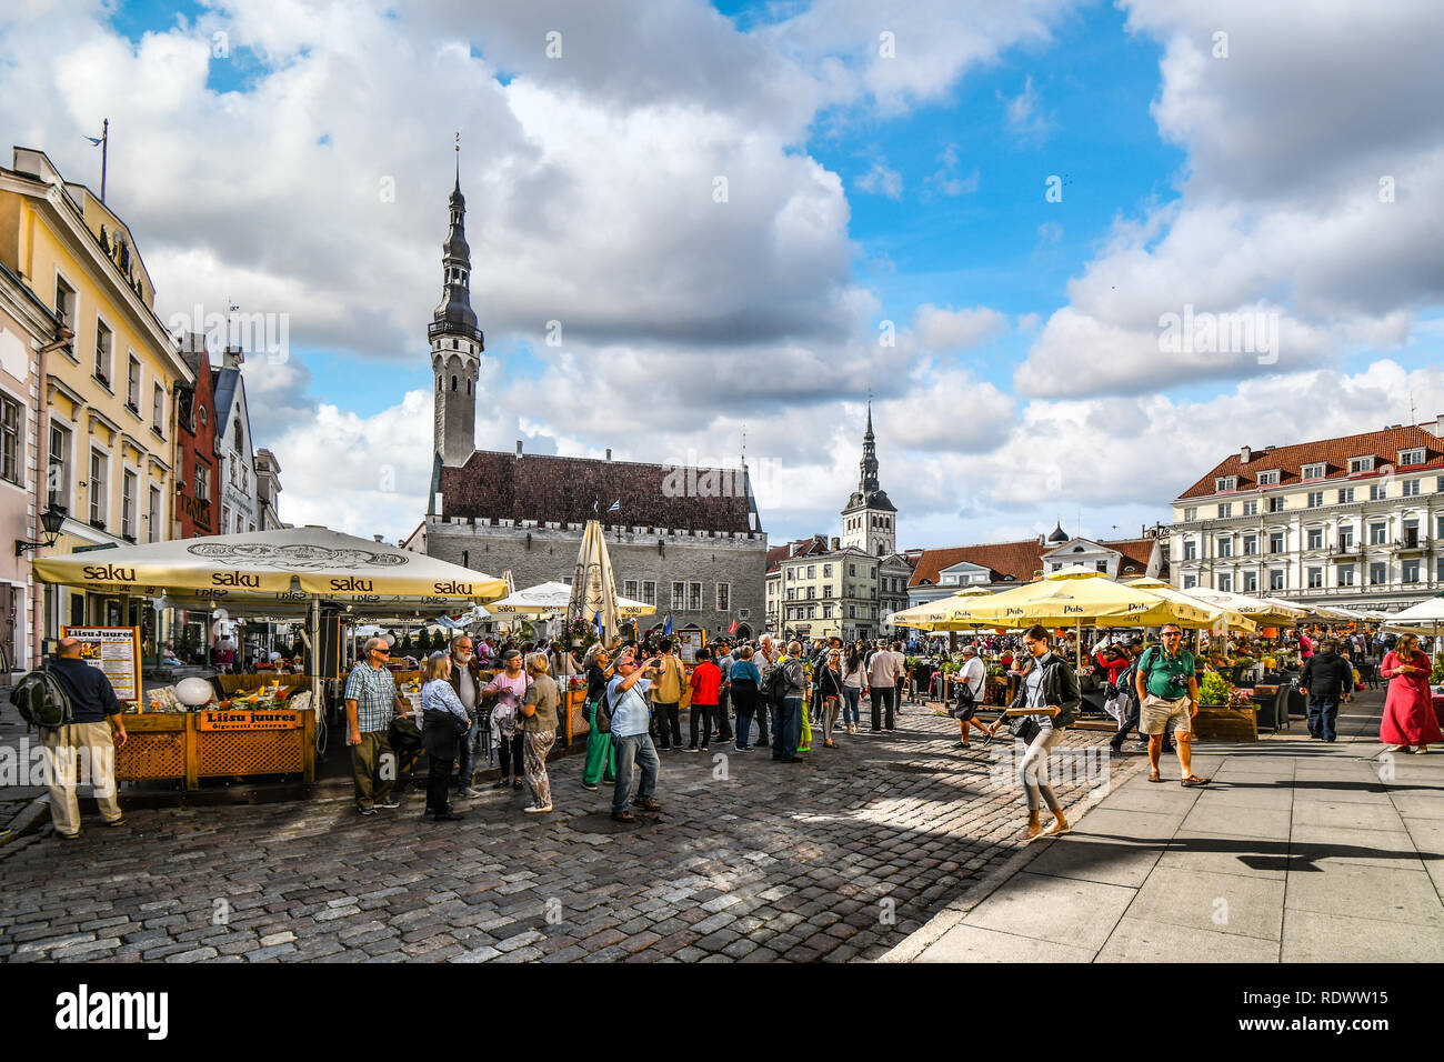
[[602, 522], [617, 592], [654, 604], [674, 629], [715, 634], [764, 623], [767, 535], [741, 468], [679, 468], [475, 448], [477, 379], [485, 340], [471, 308], [471, 249], [461, 178], [442, 244], [442, 302], [426, 334], [435, 390], [435, 457], [426, 520], [401, 545], [516, 587], [570, 582], [591, 519]]

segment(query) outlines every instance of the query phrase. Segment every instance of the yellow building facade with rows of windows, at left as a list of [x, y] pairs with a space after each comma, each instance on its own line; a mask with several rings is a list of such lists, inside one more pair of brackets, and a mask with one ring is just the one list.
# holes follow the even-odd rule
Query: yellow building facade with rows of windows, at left
[[[39, 555], [170, 538], [173, 397], [193, 374], [155, 314], [155, 286], [129, 227], [43, 152], [16, 147], [12, 168], [0, 168], [0, 260], [72, 332], [40, 360], [35, 500], [68, 516]], [[65, 624], [153, 621], [143, 601], [49, 587], [36, 594], [45, 637]]]

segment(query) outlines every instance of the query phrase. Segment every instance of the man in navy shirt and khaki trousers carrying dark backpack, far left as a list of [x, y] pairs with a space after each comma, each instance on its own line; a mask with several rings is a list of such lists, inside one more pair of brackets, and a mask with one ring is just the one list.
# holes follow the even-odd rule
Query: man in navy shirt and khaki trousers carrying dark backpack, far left
[[[81, 761], [88, 761], [95, 803], [100, 805], [105, 825], [124, 825], [126, 816], [116, 798], [116, 750], [124, 748], [127, 735], [116, 689], [105, 672], [81, 659], [79, 639], [61, 639], [59, 653], [45, 670], [58, 683], [56, 692], [68, 702], [53, 705], [64, 720], [61, 725], [40, 727], [55, 832], [66, 839], [81, 834], [79, 800], [75, 793]], [[46, 699], [53, 701], [53, 694]]]

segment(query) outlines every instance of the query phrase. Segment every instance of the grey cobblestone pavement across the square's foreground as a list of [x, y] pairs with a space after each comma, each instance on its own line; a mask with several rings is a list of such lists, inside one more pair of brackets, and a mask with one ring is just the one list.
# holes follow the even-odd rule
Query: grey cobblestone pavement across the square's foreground
[[46, 826], [0, 850], [0, 961], [877, 958], [1018, 850], [1022, 793], [993, 782], [1011, 747], [963, 753], [917, 707], [838, 744], [801, 764], [663, 753], [661, 816], [621, 832], [580, 757], [554, 764], [547, 816], [498, 792], [436, 825], [410, 792], [370, 819], [331, 799], [88, 818], [74, 842]]

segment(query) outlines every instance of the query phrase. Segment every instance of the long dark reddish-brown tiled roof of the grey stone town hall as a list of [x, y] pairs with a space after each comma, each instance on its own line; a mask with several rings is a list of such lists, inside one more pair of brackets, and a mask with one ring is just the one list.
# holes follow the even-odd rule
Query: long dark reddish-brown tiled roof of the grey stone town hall
[[[718, 472], [721, 497], [686, 493], [705, 488], [710, 471]], [[669, 475], [674, 477], [671, 484]], [[741, 490], [741, 472], [697, 468], [696, 475], [690, 485], [683, 481], [684, 491], [677, 494], [670, 488], [677, 478], [671, 465], [478, 449], [461, 468], [442, 467], [442, 516], [562, 524], [598, 519], [606, 526], [761, 532], [748, 526], [749, 497]], [[619, 511], [606, 511], [612, 501], [621, 503]]]

